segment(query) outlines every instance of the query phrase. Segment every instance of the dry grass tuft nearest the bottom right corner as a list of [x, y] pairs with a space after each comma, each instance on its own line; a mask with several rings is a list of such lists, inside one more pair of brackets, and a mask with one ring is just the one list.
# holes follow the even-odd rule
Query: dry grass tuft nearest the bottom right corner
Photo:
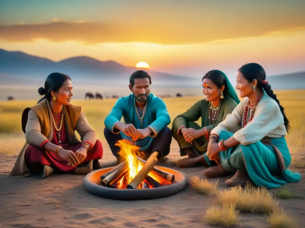
[[295, 219], [289, 217], [283, 211], [273, 212], [268, 217], [271, 228], [296, 228], [298, 224]]

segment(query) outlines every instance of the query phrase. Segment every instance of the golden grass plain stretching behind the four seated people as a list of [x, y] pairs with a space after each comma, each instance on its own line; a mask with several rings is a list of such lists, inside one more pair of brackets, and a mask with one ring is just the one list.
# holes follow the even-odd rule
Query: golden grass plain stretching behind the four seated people
[[[292, 164], [296, 168], [305, 167], [305, 90], [276, 91], [278, 99], [285, 108], [290, 121], [291, 131], [286, 136], [292, 155]], [[185, 112], [192, 104], [203, 97], [164, 98], [170, 114], [171, 121], [178, 114]], [[74, 100], [73, 103], [81, 105], [88, 122], [95, 129], [98, 139], [104, 141], [104, 120], [117, 99], [104, 100]], [[0, 102], [0, 149], [6, 153], [15, 153], [24, 143], [21, 130], [22, 111], [37, 101], [3, 101]], [[200, 123], [200, 120], [197, 121]], [[172, 123], [169, 127], [171, 128]], [[19, 137], [18, 137], [19, 136]], [[22, 139], [21, 141], [18, 138]], [[14, 148], [3, 147], [3, 143], [13, 143]], [[16, 147], [16, 148], [15, 148]]]

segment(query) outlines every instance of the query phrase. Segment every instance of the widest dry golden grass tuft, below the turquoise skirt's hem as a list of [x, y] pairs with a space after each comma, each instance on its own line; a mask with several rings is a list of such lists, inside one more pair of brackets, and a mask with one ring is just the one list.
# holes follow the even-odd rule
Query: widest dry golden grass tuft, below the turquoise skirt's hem
[[241, 212], [267, 214], [278, 208], [278, 201], [266, 188], [254, 188], [249, 183], [244, 189], [234, 186], [219, 191], [217, 196], [221, 203], [235, 203]]

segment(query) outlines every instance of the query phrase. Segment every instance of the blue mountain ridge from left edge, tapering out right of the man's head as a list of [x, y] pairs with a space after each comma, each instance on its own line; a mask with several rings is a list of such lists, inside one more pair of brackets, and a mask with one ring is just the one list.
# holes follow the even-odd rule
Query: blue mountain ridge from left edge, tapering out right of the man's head
[[[114, 61], [99, 61], [91, 57], [79, 56], [55, 62], [46, 58], [32, 56], [19, 51], [0, 49], [0, 81], [12, 79], [46, 78], [52, 72], [63, 72], [74, 78], [86, 79], [126, 79], [138, 70], [125, 67]], [[149, 70], [154, 79], [187, 80], [189, 77]], [[6, 77], [9, 76], [9, 77]], [[126, 84], [126, 83], [125, 83]]]

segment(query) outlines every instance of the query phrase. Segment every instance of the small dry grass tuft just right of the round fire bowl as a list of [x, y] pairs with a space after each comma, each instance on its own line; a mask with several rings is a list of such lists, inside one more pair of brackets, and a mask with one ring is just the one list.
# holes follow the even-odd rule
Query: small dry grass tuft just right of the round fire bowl
[[192, 188], [196, 189], [203, 195], [213, 195], [217, 191], [218, 181], [209, 182], [206, 179], [199, 178], [198, 176], [193, 176], [189, 178], [189, 183]]

